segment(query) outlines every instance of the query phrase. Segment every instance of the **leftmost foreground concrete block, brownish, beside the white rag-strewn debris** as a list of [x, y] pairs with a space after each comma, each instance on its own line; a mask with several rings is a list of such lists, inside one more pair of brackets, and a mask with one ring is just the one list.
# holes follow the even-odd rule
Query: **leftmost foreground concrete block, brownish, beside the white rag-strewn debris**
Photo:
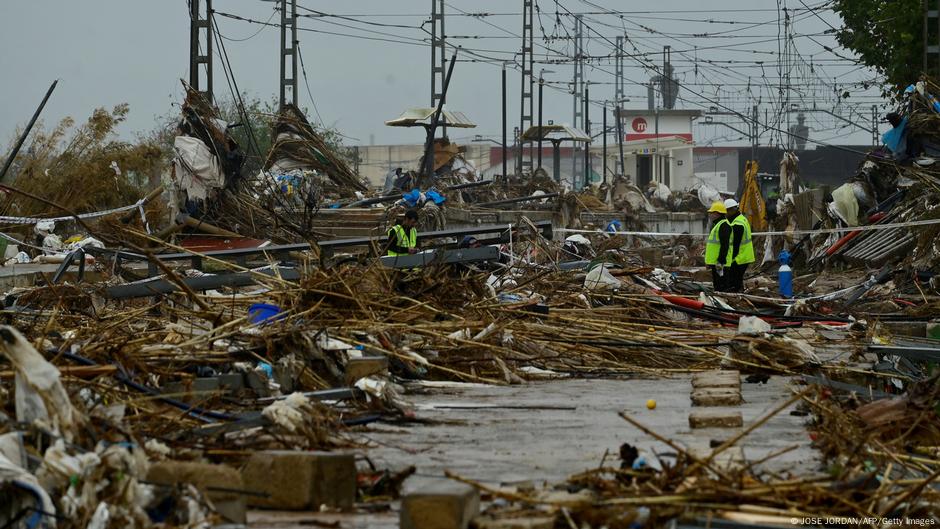
[[232, 523], [247, 523], [245, 490], [238, 470], [225, 465], [186, 461], [159, 461], [147, 471], [147, 481], [160, 485], [191, 483], [206, 494], [216, 511]]

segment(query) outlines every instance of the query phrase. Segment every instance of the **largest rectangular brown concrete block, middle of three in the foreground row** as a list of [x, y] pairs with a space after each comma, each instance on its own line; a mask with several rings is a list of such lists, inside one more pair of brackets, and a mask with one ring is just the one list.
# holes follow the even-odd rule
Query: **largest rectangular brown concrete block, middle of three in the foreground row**
[[245, 487], [268, 494], [251, 496], [252, 507], [350, 509], [356, 502], [356, 458], [340, 452], [255, 452], [242, 468]]

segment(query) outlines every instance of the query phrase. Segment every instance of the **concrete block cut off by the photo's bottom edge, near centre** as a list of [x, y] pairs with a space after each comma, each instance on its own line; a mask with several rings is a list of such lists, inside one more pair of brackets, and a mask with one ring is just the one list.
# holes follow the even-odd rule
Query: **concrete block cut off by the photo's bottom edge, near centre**
[[401, 500], [400, 529], [467, 529], [480, 514], [476, 489], [453, 481], [407, 494]]

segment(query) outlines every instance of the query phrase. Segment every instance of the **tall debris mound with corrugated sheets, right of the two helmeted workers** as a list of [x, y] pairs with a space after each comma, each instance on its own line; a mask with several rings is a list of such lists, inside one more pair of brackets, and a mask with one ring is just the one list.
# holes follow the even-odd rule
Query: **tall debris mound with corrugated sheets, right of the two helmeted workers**
[[[781, 198], [776, 227], [800, 232], [787, 236], [811, 267], [878, 269], [902, 267], [918, 281], [932, 277], [938, 254], [937, 232], [931, 221], [938, 188], [934, 156], [940, 112], [932, 95], [938, 87], [929, 78], [901, 95], [896, 112], [888, 115], [892, 128], [885, 145], [872, 151], [846, 184], [824, 195], [802, 190], [796, 159], [781, 164]], [[784, 192], [784, 189], [789, 192]], [[811, 220], [813, 217], [819, 221]], [[899, 225], [879, 229], [879, 225]], [[828, 228], [825, 233], [807, 230]], [[791, 251], [792, 253], [792, 251]], [[925, 277], [929, 276], [929, 277]]]

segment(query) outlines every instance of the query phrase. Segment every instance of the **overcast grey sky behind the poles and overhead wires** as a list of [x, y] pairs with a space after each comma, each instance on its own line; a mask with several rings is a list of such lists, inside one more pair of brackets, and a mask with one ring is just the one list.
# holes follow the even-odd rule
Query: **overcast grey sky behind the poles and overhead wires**
[[[871, 105], [883, 103], [874, 88], [859, 84], [875, 79], [866, 68], [826, 52], [834, 45], [825, 34], [839, 27], [838, 16], [827, 10], [810, 11], [820, 0], [787, 1], [798, 54], [792, 60], [791, 104], [819, 109], [808, 115], [811, 136], [837, 144], [868, 144], [871, 133], [861, 130], [871, 124]], [[759, 98], [761, 120], [767, 112], [770, 125], [785, 123], [774, 118], [778, 98], [778, 14], [776, 0], [662, 0], [635, 2], [615, 0], [539, 0], [541, 17], [536, 22], [536, 60], [557, 60], [572, 54], [573, 13], [585, 13], [585, 46], [593, 57], [586, 77], [598, 83], [591, 99], [600, 104], [614, 98], [611, 43], [617, 35], [629, 39], [626, 52], [640, 57], [625, 59], [626, 106], [646, 107], [646, 82], [655, 72], [649, 67], [662, 63], [662, 47], [673, 48], [677, 77], [683, 82], [677, 107], [707, 109], [717, 106], [746, 111]], [[220, 13], [277, 23], [276, 3], [262, 0], [215, 0]], [[416, 130], [384, 126], [402, 110], [430, 103], [430, 0], [299, 0], [301, 14], [312, 10], [349, 18], [302, 18], [300, 47], [306, 63], [310, 93], [322, 121], [349, 136], [347, 144], [417, 143]], [[746, 6], [746, 9], [738, 8]], [[450, 44], [472, 48], [492, 59], [512, 60], [520, 46], [522, 1], [449, 0], [447, 34]], [[629, 10], [630, 13], [623, 13]], [[557, 15], [556, 15], [557, 11]], [[608, 13], [618, 11], [618, 13]], [[464, 12], [464, 13], [462, 13]], [[485, 14], [467, 16], [465, 13]], [[621, 14], [623, 16], [621, 16]], [[386, 16], [394, 15], [394, 16]], [[355, 20], [351, 20], [355, 19]], [[239, 88], [253, 96], [270, 97], [278, 92], [279, 30], [217, 15], [225, 47]], [[382, 25], [380, 25], [382, 24]], [[403, 26], [403, 27], [400, 27]], [[355, 29], [354, 29], [355, 28]], [[309, 31], [308, 31], [309, 30]], [[543, 30], [551, 40], [542, 38]], [[782, 29], [780, 29], [782, 33]], [[703, 36], [703, 34], [708, 34]], [[484, 38], [468, 38], [478, 37]], [[374, 40], [385, 39], [385, 40]], [[609, 42], [608, 42], [609, 40]], [[12, 140], [25, 124], [53, 79], [60, 79], [43, 119], [51, 124], [72, 116], [84, 120], [99, 106], [130, 104], [130, 116], [120, 134], [132, 138], [151, 130], [155, 116], [178, 104], [180, 78], [188, 78], [189, 14], [186, 0], [29, 0], [6, 1], [0, 7], [0, 139]], [[219, 47], [216, 46], [216, 52]], [[844, 57], [850, 52], [837, 49]], [[462, 53], [464, 59], [474, 58]], [[712, 61], [711, 63], [707, 61]], [[738, 62], [728, 62], [738, 61]], [[764, 61], [758, 64], [757, 61]], [[696, 68], [697, 66], [697, 68]], [[545, 91], [545, 120], [571, 122], [572, 98], [564, 83], [572, 77], [572, 65], [536, 64], [552, 70], [545, 75], [552, 89]], [[537, 75], [537, 74], [536, 74]], [[509, 73], [509, 128], [519, 121], [519, 74]], [[835, 106], [834, 94], [851, 96]], [[222, 63], [215, 61], [215, 93], [227, 97], [229, 88]], [[300, 83], [300, 104], [319, 121], [310, 96]], [[454, 70], [448, 108], [466, 113], [479, 126], [452, 134], [469, 139], [474, 134], [498, 137], [500, 123], [500, 66], [492, 63], [459, 62]], [[822, 110], [834, 111], [840, 120]], [[599, 108], [591, 109], [600, 122]], [[795, 116], [793, 117], [795, 119]], [[746, 129], [735, 118], [736, 128]], [[854, 123], [853, 124], [850, 124]], [[595, 125], [595, 130], [597, 130]], [[884, 130], [884, 127], [882, 127]], [[730, 127], [699, 124], [699, 145], [745, 144]], [[771, 139], [764, 134], [762, 143]]]

